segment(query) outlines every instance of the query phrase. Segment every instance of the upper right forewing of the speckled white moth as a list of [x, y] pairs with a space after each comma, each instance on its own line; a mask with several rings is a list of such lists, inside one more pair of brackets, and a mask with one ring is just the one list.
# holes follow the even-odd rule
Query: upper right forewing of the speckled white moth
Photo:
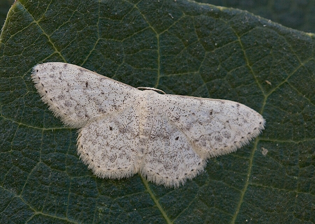
[[207, 159], [246, 145], [264, 129], [265, 120], [238, 102], [156, 94], [160, 110]]

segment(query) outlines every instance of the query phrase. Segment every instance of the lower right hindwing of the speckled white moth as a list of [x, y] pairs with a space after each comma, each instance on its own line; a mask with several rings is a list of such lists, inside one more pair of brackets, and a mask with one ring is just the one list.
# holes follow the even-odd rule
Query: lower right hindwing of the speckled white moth
[[159, 111], [153, 121], [140, 173], [148, 181], [179, 187], [203, 171], [206, 160], [193, 149], [190, 139]]

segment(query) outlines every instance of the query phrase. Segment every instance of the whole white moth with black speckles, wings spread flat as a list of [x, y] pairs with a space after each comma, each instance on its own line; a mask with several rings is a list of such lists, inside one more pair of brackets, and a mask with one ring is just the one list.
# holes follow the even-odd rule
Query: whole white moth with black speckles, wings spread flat
[[80, 128], [78, 154], [100, 178], [139, 173], [179, 187], [207, 159], [235, 152], [264, 129], [263, 117], [243, 104], [141, 91], [76, 65], [39, 64], [31, 77], [53, 114]]

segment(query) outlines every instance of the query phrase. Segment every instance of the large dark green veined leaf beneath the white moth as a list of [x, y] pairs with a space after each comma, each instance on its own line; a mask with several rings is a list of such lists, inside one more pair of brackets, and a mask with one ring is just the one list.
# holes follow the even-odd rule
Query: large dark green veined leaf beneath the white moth
[[[177, 1], [17, 1], [0, 42], [0, 223], [315, 223], [314, 36]], [[31, 68], [68, 62], [131, 86], [238, 101], [267, 121], [179, 189], [96, 178]]]

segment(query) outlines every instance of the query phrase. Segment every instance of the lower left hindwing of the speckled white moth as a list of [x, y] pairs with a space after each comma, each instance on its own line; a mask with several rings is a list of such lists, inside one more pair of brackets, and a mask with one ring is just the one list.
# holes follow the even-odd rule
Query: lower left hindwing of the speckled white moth
[[139, 113], [132, 105], [80, 129], [78, 155], [100, 177], [128, 178], [139, 171]]

